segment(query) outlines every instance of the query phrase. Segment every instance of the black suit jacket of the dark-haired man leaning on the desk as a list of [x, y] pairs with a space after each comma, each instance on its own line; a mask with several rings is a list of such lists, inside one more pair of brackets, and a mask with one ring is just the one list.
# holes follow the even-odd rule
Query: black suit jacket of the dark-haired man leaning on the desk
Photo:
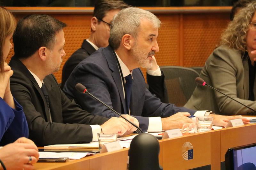
[[89, 143], [92, 141], [92, 128], [88, 124], [101, 125], [108, 120], [89, 114], [69, 100], [51, 74], [44, 78], [49, 94], [51, 123], [43, 92], [35, 78], [15, 56], [9, 65], [14, 71], [10, 79], [12, 94], [24, 109], [29, 138], [38, 146]]

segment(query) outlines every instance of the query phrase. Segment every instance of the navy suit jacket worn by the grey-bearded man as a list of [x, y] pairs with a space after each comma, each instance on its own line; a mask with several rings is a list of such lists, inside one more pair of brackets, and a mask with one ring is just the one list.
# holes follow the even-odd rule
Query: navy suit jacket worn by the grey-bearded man
[[[192, 115], [195, 113], [195, 110], [160, 102], [146, 89], [145, 80], [139, 68], [132, 70], [132, 77], [131, 115], [139, 120], [143, 131], [148, 129], [147, 117], [168, 117], [177, 112], [189, 112]], [[121, 114], [126, 114], [122, 79], [114, 51], [110, 46], [100, 48], [79, 63], [68, 78], [63, 91], [67, 93], [68, 97], [75, 99], [83, 109], [90, 111], [92, 114], [103, 115], [108, 118], [118, 117], [89, 95], [77, 92], [73, 88], [76, 83], [82, 83], [89, 92], [107, 105]]]

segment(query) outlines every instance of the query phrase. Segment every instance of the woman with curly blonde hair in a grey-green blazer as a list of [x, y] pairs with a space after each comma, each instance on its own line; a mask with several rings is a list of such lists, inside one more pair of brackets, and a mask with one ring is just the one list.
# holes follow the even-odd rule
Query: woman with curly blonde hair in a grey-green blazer
[[[233, 99], [256, 110], [256, 2], [248, 4], [228, 24], [219, 47], [207, 59], [200, 77]], [[221, 115], [255, 115], [219, 92], [197, 85], [184, 107]]]

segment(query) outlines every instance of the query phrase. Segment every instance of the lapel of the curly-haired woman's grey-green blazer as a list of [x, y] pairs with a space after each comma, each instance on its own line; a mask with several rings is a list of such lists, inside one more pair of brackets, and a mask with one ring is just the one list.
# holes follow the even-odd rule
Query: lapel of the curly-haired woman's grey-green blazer
[[[248, 99], [249, 98], [249, 66], [248, 66], [247, 57], [243, 58], [243, 67], [244, 67], [244, 99]], [[255, 87], [255, 84], [254, 84], [254, 87]]]

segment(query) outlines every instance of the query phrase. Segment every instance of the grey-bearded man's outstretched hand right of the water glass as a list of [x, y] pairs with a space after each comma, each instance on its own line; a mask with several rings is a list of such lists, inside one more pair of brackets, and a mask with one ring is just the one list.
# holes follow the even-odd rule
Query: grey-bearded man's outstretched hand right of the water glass
[[241, 115], [238, 115], [238, 116], [223, 116], [223, 115], [210, 114], [209, 116], [213, 117], [212, 124], [214, 124], [215, 126], [227, 127], [229, 120], [238, 119], [238, 118], [241, 118], [242, 121], [244, 122], [244, 124], [249, 124], [250, 123], [249, 119], [247, 119], [247, 118], [245, 118]]

